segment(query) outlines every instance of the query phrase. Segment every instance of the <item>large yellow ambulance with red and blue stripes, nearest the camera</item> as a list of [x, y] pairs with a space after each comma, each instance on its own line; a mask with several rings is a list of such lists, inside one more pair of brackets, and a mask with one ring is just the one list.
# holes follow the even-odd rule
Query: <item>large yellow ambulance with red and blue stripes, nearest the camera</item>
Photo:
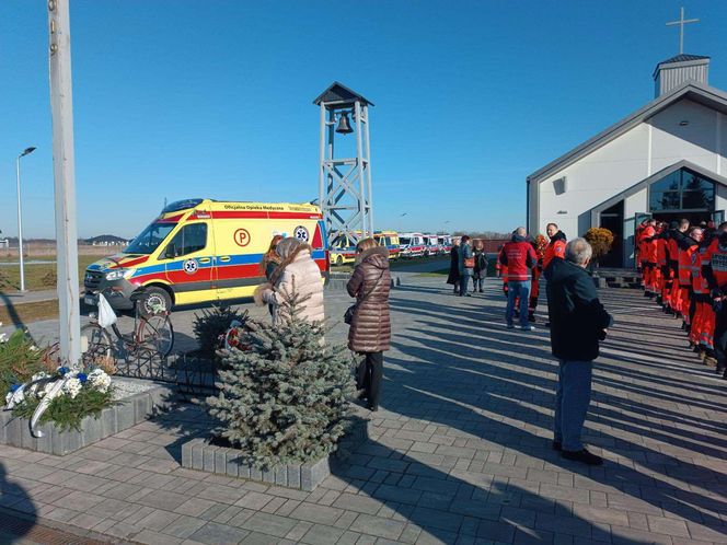
[[84, 302], [95, 304], [104, 291], [114, 309], [129, 310], [142, 286], [142, 313], [251, 297], [265, 281], [259, 262], [276, 234], [310, 244], [327, 277], [328, 243], [316, 206], [187, 199], [166, 206], [124, 252], [89, 266]]

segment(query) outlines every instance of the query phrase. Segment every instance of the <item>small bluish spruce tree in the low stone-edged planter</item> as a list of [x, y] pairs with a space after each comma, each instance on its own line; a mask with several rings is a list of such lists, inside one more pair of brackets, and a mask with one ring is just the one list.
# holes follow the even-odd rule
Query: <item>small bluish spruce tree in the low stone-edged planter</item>
[[215, 434], [242, 450], [257, 468], [304, 463], [330, 454], [345, 431], [356, 390], [344, 346], [324, 339], [324, 324], [300, 314], [308, 298], [281, 294], [277, 325], [247, 322], [246, 351], [223, 358], [220, 393], [208, 397]]

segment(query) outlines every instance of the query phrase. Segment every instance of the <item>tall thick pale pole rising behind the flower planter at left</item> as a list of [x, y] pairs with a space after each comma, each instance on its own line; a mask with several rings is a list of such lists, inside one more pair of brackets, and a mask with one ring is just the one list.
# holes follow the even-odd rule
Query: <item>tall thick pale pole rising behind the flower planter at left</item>
[[53, 173], [56, 200], [56, 247], [60, 356], [70, 364], [81, 358], [81, 317], [76, 227], [76, 165], [73, 158], [73, 96], [71, 88], [70, 0], [49, 0], [50, 114]]

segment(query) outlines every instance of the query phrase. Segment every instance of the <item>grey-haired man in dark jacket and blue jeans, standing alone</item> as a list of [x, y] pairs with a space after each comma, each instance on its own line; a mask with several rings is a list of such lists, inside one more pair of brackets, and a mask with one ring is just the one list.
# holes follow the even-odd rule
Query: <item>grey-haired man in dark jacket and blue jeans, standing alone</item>
[[612, 322], [586, 271], [591, 254], [585, 239], [572, 240], [565, 247], [565, 259], [553, 259], [545, 278], [551, 347], [558, 359], [553, 449], [566, 460], [600, 465], [603, 460], [580, 441], [590, 404], [593, 360]]

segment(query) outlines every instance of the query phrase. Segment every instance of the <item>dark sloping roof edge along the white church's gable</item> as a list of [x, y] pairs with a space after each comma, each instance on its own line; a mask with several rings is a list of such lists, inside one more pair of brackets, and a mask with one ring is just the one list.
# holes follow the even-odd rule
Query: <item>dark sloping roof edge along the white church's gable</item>
[[689, 81], [674, 88], [671, 92], [655, 98], [643, 108], [637, 109], [630, 116], [621, 119], [619, 123], [612, 125], [602, 132], [599, 132], [590, 140], [585, 141], [564, 155], [551, 161], [545, 166], [528, 176], [528, 181], [545, 179], [683, 98], [694, 101], [706, 107], [727, 114], [727, 93], [696, 81]]

